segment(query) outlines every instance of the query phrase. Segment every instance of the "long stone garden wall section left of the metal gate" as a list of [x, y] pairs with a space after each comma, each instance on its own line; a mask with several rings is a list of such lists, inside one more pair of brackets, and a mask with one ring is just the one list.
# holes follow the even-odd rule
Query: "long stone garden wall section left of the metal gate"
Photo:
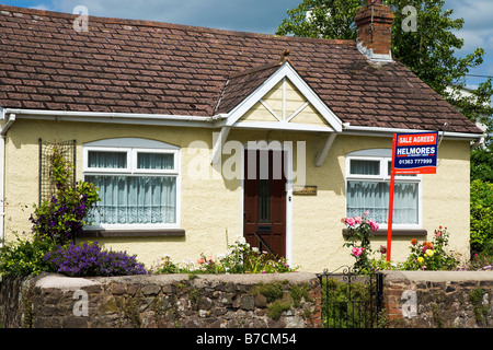
[[[21, 291], [21, 287], [24, 288]], [[5, 279], [2, 327], [306, 328], [321, 326], [312, 273]]]

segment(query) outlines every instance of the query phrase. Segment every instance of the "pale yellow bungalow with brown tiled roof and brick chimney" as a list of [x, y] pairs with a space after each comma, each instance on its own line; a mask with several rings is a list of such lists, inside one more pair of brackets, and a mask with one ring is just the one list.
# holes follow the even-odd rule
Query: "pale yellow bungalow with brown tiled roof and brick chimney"
[[[45, 150], [101, 201], [84, 235], [147, 266], [257, 233], [302, 270], [353, 262], [344, 217], [385, 245], [394, 132], [438, 131], [437, 173], [399, 176], [392, 258], [439, 225], [469, 252], [469, 154], [482, 131], [392, 59], [392, 11], [358, 39], [278, 37], [0, 5], [0, 235], [30, 232]], [[68, 156], [67, 155], [67, 156]]]

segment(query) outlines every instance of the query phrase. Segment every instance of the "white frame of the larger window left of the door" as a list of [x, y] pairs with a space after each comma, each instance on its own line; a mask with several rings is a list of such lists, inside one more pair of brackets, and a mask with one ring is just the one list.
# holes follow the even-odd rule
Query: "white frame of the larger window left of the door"
[[[119, 147], [126, 144], [127, 147]], [[103, 167], [90, 167], [89, 166], [89, 152], [125, 152], [127, 153], [127, 167], [126, 168], [103, 168]], [[173, 154], [174, 167], [173, 170], [146, 170], [137, 167], [138, 153], [160, 153], [160, 154]], [[122, 175], [122, 176], [159, 176], [159, 177], [175, 177], [176, 178], [176, 220], [174, 223], [126, 223], [126, 224], [92, 224], [84, 228], [88, 231], [100, 230], [117, 230], [117, 231], [135, 231], [135, 230], [164, 230], [164, 229], [180, 229], [181, 228], [181, 150], [175, 145], [171, 145], [164, 142], [136, 139], [136, 138], [122, 138], [111, 139], [85, 143], [82, 147], [82, 178], [85, 180], [85, 176], [91, 175]]]

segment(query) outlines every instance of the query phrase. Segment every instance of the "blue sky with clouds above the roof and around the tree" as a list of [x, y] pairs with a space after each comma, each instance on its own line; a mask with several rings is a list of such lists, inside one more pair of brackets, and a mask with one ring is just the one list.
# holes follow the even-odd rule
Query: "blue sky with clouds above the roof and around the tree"
[[[2, 4], [72, 12], [82, 4], [89, 14], [108, 18], [170, 22], [232, 31], [273, 34], [286, 18], [286, 10], [301, 0], [0, 0]], [[465, 25], [457, 36], [465, 39], [458, 56], [482, 47], [486, 55], [470, 74], [493, 75], [493, 0], [445, 0], [445, 8], [454, 10], [454, 18], [462, 18]], [[471, 88], [484, 78], [468, 77]]]

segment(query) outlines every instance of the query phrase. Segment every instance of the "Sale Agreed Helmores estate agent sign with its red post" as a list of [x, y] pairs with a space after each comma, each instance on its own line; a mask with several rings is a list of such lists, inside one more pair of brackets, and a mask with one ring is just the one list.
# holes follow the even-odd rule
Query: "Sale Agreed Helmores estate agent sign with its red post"
[[395, 175], [436, 174], [438, 132], [394, 133], [390, 171], [389, 222], [387, 229], [387, 261], [392, 243], [393, 189]]

